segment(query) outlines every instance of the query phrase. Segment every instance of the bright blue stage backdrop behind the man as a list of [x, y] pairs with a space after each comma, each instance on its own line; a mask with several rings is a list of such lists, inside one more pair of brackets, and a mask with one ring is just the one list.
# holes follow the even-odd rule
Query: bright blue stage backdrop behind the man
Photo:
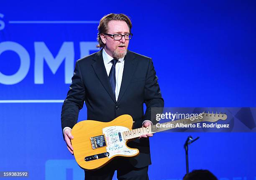
[[[75, 61], [97, 51], [97, 25], [108, 13], [131, 17], [129, 49], [153, 58], [166, 107], [256, 106], [255, 1], [2, 0], [0, 171], [83, 177], [62, 139], [61, 105]], [[200, 136], [189, 147], [190, 170], [256, 179], [255, 133], [155, 134], [150, 179], [182, 179], [190, 134]]]

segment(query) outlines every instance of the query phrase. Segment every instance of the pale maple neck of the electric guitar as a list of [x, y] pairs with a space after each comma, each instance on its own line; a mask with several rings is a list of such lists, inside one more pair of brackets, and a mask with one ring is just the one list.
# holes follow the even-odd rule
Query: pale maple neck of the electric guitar
[[156, 132], [174, 129], [176, 127], [176, 124], [179, 124], [179, 123], [194, 124], [197, 122], [202, 122], [202, 119], [195, 119], [193, 121], [190, 119], [179, 119], [176, 121], [158, 123], [157, 125], [153, 125], [149, 127], [141, 127], [138, 129], [132, 129], [130, 131], [125, 131], [123, 132], [123, 137], [125, 140], [134, 139], [134, 138], [140, 137], [142, 134], [154, 134]]

